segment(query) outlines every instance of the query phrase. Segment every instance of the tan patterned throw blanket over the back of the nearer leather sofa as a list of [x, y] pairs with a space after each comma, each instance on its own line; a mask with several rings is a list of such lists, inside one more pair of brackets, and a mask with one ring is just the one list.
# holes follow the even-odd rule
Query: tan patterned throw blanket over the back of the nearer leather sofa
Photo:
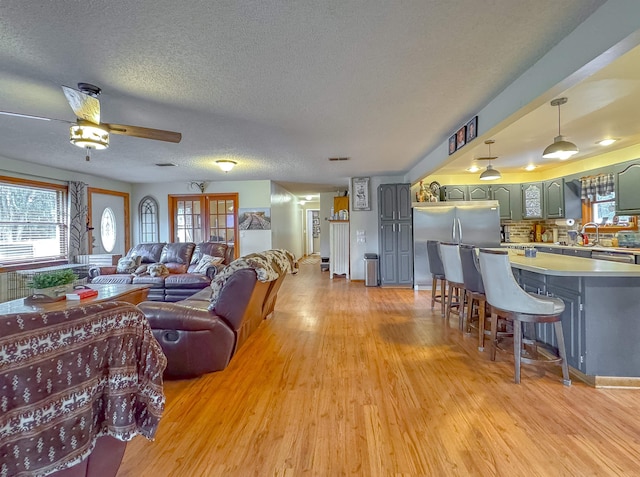
[[260, 253], [250, 253], [244, 257], [234, 260], [229, 265], [218, 272], [211, 281], [211, 304], [209, 310], [213, 311], [218, 302], [218, 295], [224, 288], [227, 280], [236, 270], [250, 268], [255, 270], [258, 280], [261, 282], [271, 282], [280, 275], [291, 272], [298, 273], [298, 262], [295, 256], [288, 250], [265, 250]]

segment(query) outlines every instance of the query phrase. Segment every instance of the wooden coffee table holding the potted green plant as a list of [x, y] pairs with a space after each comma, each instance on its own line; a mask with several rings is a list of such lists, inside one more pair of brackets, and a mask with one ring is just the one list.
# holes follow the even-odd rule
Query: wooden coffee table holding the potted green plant
[[89, 288], [98, 290], [98, 295], [83, 300], [61, 300], [53, 303], [25, 304], [24, 298], [0, 303], [0, 315], [10, 313], [30, 313], [33, 311], [68, 310], [76, 306], [106, 301], [126, 301], [137, 305], [147, 299], [150, 285], [121, 285], [121, 284], [89, 284]]

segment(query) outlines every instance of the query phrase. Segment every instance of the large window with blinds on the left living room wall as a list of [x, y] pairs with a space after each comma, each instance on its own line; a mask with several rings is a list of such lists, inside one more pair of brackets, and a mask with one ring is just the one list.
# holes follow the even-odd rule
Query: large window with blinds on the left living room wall
[[0, 264], [67, 256], [67, 188], [0, 177]]

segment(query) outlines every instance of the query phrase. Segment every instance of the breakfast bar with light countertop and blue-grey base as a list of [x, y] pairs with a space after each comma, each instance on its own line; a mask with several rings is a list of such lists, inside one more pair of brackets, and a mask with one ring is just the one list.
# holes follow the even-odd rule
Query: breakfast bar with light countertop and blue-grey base
[[[526, 291], [565, 302], [562, 328], [574, 374], [594, 386], [640, 387], [640, 266], [510, 250], [514, 276]], [[556, 347], [549, 325], [537, 339]]]

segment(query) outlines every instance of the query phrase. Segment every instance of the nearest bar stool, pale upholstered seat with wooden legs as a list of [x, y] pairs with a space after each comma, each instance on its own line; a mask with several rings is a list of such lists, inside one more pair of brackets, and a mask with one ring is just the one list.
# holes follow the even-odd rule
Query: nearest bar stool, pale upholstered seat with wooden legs
[[[495, 350], [497, 317], [513, 320], [513, 354], [515, 360], [515, 383], [520, 383], [520, 363], [535, 364], [541, 361], [560, 363], [565, 386], [571, 385], [567, 354], [562, 332], [561, 315], [564, 302], [558, 298], [527, 293], [513, 277], [509, 253], [506, 250], [480, 249], [480, 273], [487, 301], [491, 305], [491, 345]], [[558, 340], [558, 358], [547, 360], [522, 356], [522, 324], [553, 323]], [[495, 353], [495, 351], [492, 351]]]

